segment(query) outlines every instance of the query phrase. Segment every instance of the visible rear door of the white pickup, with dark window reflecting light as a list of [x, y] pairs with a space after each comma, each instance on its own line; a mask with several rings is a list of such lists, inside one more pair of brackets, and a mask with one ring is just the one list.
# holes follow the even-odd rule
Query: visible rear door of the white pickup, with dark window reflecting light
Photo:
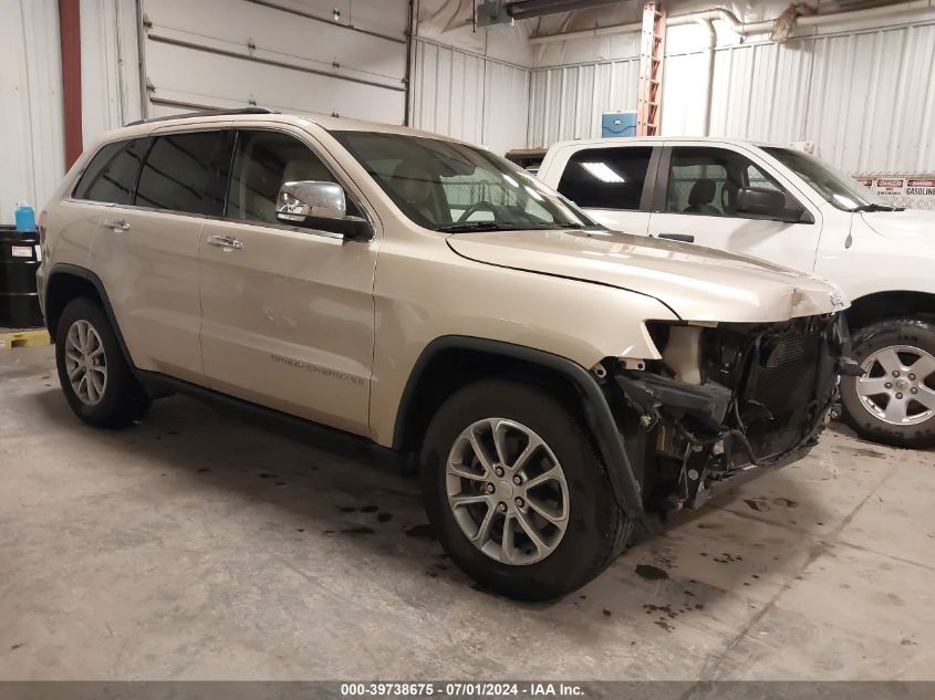
[[654, 147], [595, 146], [574, 150], [557, 189], [610, 229], [645, 236], [650, 226]]

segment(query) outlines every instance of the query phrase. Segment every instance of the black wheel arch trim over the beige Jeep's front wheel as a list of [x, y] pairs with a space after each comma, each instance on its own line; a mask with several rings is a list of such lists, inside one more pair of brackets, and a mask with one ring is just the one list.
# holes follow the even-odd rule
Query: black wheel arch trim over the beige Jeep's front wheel
[[408, 415], [426, 367], [438, 353], [450, 349], [507, 356], [551, 369], [568, 379], [581, 396], [588, 428], [598, 443], [617, 503], [631, 520], [643, 520], [644, 509], [640, 483], [633, 474], [633, 468], [624, 448], [623, 436], [617, 429], [614, 415], [601, 385], [598, 384], [596, 378], [590, 372], [578, 363], [546, 351], [505, 341], [466, 335], [445, 335], [435, 338], [423, 349], [409, 373], [409, 378], [399, 400], [399, 409], [396, 412], [393, 449], [402, 450], [404, 447]]

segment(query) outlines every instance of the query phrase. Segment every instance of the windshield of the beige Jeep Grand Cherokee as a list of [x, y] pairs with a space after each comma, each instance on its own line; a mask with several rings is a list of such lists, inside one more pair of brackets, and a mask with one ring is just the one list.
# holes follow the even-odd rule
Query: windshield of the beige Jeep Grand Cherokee
[[409, 219], [436, 231], [603, 228], [529, 173], [481, 148], [439, 138], [332, 135]]

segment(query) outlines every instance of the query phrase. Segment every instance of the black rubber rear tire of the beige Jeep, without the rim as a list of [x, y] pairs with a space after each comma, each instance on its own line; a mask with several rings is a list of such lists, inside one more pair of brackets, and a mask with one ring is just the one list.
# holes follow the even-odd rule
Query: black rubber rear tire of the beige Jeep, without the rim
[[[107, 378], [103, 394], [94, 405], [83, 401], [69, 380], [65, 363], [67, 334], [77, 321], [89, 323], [101, 338]], [[84, 422], [98, 428], [126, 428], [149, 408], [152, 399], [134, 378], [116, 334], [100, 304], [87, 297], [74, 299], [62, 311], [55, 328], [55, 363], [65, 399]]]

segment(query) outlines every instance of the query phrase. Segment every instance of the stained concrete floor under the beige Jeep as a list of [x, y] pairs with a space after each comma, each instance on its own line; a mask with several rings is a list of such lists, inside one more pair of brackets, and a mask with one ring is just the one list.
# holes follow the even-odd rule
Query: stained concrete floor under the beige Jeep
[[931, 451], [828, 432], [522, 605], [360, 456], [183, 397], [93, 430], [49, 347], [0, 387], [0, 679], [935, 679]]

